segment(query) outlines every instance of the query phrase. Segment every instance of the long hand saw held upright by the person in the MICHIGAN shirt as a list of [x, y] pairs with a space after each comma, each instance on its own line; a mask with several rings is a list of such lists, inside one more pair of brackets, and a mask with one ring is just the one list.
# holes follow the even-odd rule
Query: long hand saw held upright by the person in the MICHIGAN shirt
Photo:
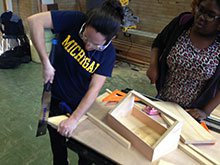
[[[55, 46], [57, 45], [57, 40], [52, 40], [52, 48], [50, 52], [50, 62], [54, 64], [54, 54], [55, 54]], [[41, 111], [39, 115], [38, 127], [37, 127], [37, 134], [36, 137], [45, 135], [47, 132], [47, 122], [49, 116], [49, 109], [50, 109], [50, 101], [51, 101], [51, 86], [50, 82], [44, 84], [43, 93], [41, 98]]]

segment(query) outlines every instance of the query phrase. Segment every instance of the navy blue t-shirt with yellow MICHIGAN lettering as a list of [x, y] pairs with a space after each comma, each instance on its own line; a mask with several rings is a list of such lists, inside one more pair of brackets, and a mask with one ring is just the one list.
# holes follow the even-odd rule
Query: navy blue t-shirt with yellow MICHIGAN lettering
[[110, 77], [116, 57], [112, 43], [102, 52], [85, 50], [79, 37], [86, 16], [79, 11], [51, 11], [53, 31], [58, 34], [52, 94], [76, 106], [89, 88], [92, 75]]

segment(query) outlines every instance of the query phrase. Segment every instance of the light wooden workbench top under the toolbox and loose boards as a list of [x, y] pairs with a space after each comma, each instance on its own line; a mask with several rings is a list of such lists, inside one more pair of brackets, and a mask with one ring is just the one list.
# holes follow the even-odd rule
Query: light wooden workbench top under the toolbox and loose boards
[[[111, 110], [114, 105], [105, 105], [100, 102], [100, 100], [105, 96], [105, 94], [101, 95], [97, 101], [90, 108], [90, 113], [95, 116], [97, 119], [105, 123], [106, 115], [109, 110]], [[204, 153], [210, 155], [212, 158], [220, 162], [220, 135], [211, 132], [217, 139], [214, 145], [202, 145], [196, 146]], [[97, 125], [92, 123], [88, 118], [82, 121], [76, 130], [72, 138], [87, 147], [95, 150], [101, 155], [117, 162], [118, 164], [123, 165], [142, 165], [142, 164], [162, 164], [162, 162], [168, 162], [171, 164], [200, 164], [196, 160], [189, 157], [180, 149], [176, 149], [175, 151], [161, 157], [159, 160], [154, 162], [150, 162], [147, 160], [142, 154], [140, 154], [135, 148], [131, 146], [130, 149], [123, 147], [120, 143], [114, 140], [110, 135], [105, 133], [102, 129], [100, 129]]]

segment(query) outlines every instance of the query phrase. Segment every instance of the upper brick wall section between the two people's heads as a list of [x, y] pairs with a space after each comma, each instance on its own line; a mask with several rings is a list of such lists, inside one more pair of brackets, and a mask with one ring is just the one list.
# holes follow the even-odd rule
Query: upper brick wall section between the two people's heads
[[138, 28], [158, 33], [176, 15], [191, 11], [192, 0], [131, 0], [129, 7], [140, 17]]

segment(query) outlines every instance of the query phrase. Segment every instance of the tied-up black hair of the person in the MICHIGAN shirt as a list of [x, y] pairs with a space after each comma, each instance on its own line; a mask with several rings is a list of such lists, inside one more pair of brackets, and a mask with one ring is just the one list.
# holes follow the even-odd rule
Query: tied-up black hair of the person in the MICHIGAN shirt
[[87, 13], [86, 26], [92, 26], [109, 41], [120, 30], [123, 8], [118, 0], [106, 0]]

